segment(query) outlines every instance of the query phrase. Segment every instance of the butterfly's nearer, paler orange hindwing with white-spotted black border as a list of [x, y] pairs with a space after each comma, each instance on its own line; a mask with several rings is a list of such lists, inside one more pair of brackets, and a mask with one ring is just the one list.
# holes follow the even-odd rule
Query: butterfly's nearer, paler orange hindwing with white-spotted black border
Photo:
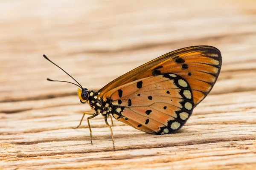
[[173, 133], [192, 114], [194, 102], [189, 83], [166, 73], [139, 79], [107, 92], [113, 117], [148, 133]]

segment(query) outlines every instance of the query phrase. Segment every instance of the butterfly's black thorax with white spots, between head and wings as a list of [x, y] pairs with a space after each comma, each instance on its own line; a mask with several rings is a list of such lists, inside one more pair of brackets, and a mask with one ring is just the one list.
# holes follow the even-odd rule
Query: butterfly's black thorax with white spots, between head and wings
[[111, 114], [110, 102], [103, 101], [102, 97], [98, 97], [99, 92], [90, 91], [88, 104], [96, 111], [96, 114], [102, 113], [102, 116], [108, 117]]

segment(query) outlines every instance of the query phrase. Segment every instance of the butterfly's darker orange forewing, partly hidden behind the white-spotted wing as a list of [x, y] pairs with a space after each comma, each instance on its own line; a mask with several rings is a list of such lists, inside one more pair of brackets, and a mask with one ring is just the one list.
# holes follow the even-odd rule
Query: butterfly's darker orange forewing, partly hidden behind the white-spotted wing
[[99, 97], [103, 97], [114, 88], [138, 79], [174, 73], [189, 83], [196, 106], [209, 94], [215, 84], [221, 70], [221, 62], [221, 52], [215, 47], [181, 48], [164, 54], [113, 80], [99, 90]]

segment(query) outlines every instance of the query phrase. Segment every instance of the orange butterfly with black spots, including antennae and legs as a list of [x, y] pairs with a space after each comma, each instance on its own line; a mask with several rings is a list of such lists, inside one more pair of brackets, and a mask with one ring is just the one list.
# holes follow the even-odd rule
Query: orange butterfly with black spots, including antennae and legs
[[83, 88], [70, 74], [56, 66], [78, 83], [68, 82], [79, 87], [77, 94], [80, 102], [88, 102], [93, 110], [92, 113], [84, 112], [76, 128], [81, 125], [84, 115], [90, 115], [87, 123], [93, 144], [89, 120], [102, 114], [110, 128], [115, 150], [108, 117], [112, 115], [116, 120], [147, 133], [175, 133], [212, 90], [221, 71], [221, 63], [221, 52], [215, 47], [200, 45], [181, 48], [129, 71], [99, 91]]

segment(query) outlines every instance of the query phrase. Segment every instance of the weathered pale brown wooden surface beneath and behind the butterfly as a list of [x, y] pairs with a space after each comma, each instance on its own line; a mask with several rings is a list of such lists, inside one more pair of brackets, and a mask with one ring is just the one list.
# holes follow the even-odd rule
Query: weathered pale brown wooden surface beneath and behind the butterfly
[[[253, 169], [256, 167], [255, 0], [1, 0], [0, 169]], [[150, 135], [90, 111], [71, 81], [98, 90], [169, 51], [219, 48], [207, 98], [176, 134]]]

